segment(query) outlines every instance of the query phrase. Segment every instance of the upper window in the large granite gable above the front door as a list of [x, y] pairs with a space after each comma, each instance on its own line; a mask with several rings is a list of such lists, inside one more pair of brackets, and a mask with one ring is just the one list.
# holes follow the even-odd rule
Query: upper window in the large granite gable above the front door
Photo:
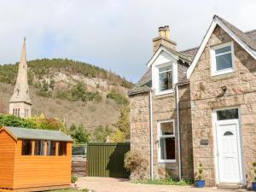
[[234, 71], [233, 44], [222, 44], [212, 48], [212, 75]]

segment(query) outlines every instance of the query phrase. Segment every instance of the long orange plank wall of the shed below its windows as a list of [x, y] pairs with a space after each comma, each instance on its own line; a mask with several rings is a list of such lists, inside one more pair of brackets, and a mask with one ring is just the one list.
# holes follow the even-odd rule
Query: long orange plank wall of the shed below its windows
[[67, 156], [23, 156], [21, 144], [18, 140], [14, 189], [70, 184], [72, 143], [67, 143]]

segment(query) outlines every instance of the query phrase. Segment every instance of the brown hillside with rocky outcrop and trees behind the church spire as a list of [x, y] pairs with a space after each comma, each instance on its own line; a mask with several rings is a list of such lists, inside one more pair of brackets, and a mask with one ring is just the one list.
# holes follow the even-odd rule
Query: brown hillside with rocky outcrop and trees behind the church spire
[[[132, 85], [114, 73], [84, 62], [43, 59], [27, 64], [32, 115], [44, 113], [59, 118], [67, 127], [112, 125], [118, 119], [120, 102], [126, 102], [126, 91]], [[0, 66], [1, 113], [8, 112], [17, 71], [18, 63]]]

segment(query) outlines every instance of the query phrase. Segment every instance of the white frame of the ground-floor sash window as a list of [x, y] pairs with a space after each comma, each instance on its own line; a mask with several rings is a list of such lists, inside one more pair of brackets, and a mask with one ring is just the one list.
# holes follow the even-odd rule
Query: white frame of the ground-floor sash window
[[[162, 123], [168, 123], [168, 122], [172, 122], [173, 123], [173, 134], [172, 135], [168, 135], [168, 136], [160, 136], [160, 125], [162, 124]], [[157, 129], [158, 129], [158, 162], [159, 163], [176, 163], [176, 154], [175, 154], [175, 160], [161, 160], [160, 159], [160, 156], [161, 156], [161, 148], [160, 148], [160, 138], [169, 138], [169, 137], [171, 137], [171, 138], [175, 138], [175, 148], [174, 148], [174, 150], [175, 150], [175, 152], [174, 153], [176, 153], [176, 137], [175, 137], [175, 120], [174, 119], [166, 119], [166, 120], [159, 120], [158, 122], [157, 122]]]

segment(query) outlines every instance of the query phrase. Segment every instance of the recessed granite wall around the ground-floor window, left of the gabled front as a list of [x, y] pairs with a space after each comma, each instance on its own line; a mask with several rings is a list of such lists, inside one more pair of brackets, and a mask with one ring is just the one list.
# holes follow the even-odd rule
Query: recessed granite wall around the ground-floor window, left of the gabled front
[[[143, 158], [148, 160], [147, 169], [144, 172], [132, 172], [131, 180], [148, 179], [150, 177], [150, 122], [149, 122], [149, 93], [137, 94], [131, 98], [131, 149], [141, 151]], [[179, 86], [180, 105], [180, 131], [181, 131], [181, 162], [182, 176], [193, 177], [193, 148], [191, 130], [191, 110], [189, 84]], [[158, 121], [165, 119], [175, 120], [176, 146], [175, 163], [158, 162]], [[178, 177], [177, 154], [177, 110], [175, 93], [155, 96], [153, 93], [153, 134], [154, 134], [154, 178]]]

